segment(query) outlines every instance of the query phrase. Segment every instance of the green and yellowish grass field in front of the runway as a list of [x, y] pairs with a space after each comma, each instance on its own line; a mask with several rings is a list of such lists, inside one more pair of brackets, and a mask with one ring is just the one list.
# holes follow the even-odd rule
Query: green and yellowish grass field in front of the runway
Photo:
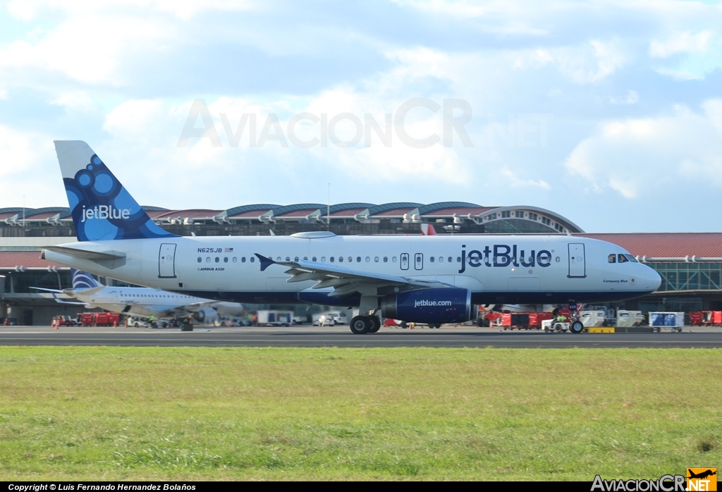
[[0, 348], [0, 480], [591, 480], [722, 465], [715, 349]]

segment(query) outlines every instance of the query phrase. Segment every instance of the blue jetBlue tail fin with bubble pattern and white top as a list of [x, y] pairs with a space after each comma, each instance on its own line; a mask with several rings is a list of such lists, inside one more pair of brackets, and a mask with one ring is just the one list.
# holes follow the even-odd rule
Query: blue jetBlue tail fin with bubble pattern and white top
[[56, 140], [55, 150], [79, 241], [177, 237], [150, 219], [84, 141]]

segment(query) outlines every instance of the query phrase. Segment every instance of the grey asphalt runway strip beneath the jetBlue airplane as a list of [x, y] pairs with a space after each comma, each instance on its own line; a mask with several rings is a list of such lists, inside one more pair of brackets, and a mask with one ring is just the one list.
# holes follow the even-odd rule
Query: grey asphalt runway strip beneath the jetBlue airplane
[[542, 333], [489, 328], [400, 330], [354, 335], [348, 327], [318, 328], [61, 328], [0, 327], [0, 346], [188, 347], [505, 347], [505, 348], [719, 348], [722, 330], [683, 333]]

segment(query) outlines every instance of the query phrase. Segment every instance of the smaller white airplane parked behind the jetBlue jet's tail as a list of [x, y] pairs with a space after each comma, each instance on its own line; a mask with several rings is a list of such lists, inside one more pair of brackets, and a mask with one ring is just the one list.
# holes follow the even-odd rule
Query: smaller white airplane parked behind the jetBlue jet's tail
[[[192, 317], [198, 322], [214, 322], [221, 316], [243, 314], [243, 306], [235, 302], [217, 302], [176, 292], [149, 289], [147, 287], [116, 287], [98, 283], [90, 273], [71, 268], [72, 289], [44, 289], [59, 304], [77, 304], [93, 309], [100, 307], [111, 312], [120, 312], [136, 317], [183, 318]], [[66, 294], [74, 301], [58, 299], [56, 294]]]

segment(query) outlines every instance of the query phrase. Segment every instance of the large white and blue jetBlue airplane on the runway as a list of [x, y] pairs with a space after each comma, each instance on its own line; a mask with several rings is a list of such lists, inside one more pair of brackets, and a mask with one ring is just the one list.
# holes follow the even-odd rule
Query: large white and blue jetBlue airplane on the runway
[[611, 302], [661, 284], [622, 247], [569, 235], [181, 237], [155, 224], [84, 141], [55, 148], [77, 242], [44, 247], [43, 258], [131, 284], [220, 301], [358, 307], [356, 334], [378, 331], [379, 315], [457, 323], [471, 319], [473, 304]]

